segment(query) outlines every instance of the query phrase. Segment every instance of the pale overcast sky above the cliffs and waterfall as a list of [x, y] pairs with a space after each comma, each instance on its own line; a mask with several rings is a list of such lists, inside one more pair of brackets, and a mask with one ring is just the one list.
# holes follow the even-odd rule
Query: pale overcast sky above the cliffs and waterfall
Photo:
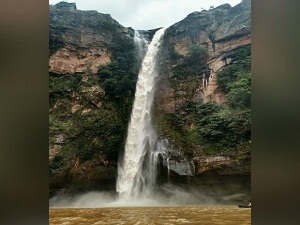
[[[65, 0], [75, 2], [79, 10], [108, 13], [124, 27], [149, 30], [169, 27], [194, 11], [224, 3], [235, 6], [241, 0]], [[56, 4], [61, 0], [49, 0]]]

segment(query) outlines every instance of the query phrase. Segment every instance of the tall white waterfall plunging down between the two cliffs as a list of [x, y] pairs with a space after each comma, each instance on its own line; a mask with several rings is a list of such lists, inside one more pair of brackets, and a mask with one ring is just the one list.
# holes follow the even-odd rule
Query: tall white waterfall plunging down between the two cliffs
[[158, 155], [153, 154], [156, 132], [151, 110], [158, 76], [157, 55], [164, 31], [160, 29], [155, 33], [139, 71], [125, 152], [118, 165], [117, 192], [120, 200], [149, 196], [155, 185]]

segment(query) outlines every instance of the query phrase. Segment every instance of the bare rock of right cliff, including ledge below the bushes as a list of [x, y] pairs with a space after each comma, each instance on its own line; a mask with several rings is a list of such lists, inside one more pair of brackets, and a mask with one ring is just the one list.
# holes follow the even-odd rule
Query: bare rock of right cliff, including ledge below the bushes
[[[170, 26], [164, 37], [163, 67], [156, 94], [157, 114], [180, 115], [178, 109], [191, 100], [224, 104], [225, 96], [218, 88], [217, 72], [235, 63], [236, 52], [248, 45], [251, 45], [250, 0], [243, 0], [235, 7], [224, 4], [209, 11], [193, 12]], [[188, 56], [193, 46], [207, 49], [206, 66], [192, 79], [185, 74], [186, 78], [179, 81], [172, 70]], [[195, 149], [194, 158], [187, 160], [186, 164], [194, 166], [195, 175], [249, 175], [250, 152], [241, 155], [207, 156], [200, 148], [198, 152]]]

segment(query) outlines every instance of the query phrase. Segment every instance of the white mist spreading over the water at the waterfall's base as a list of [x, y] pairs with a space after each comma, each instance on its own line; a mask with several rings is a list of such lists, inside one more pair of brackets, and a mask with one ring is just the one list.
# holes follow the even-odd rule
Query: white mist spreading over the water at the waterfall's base
[[56, 195], [49, 201], [51, 208], [105, 208], [105, 207], [157, 207], [183, 205], [237, 205], [246, 203], [250, 197], [247, 190], [228, 187], [177, 186], [166, 183], [157, 187], [148, 197], [130, 201], [118, 199], [115, 191], [91, 191], [78, 195]]

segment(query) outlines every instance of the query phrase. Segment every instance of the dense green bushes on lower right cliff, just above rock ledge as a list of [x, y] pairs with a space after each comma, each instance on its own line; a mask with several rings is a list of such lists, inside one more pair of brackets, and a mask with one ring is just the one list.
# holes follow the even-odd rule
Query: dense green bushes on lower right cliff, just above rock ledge
[[180, 111], [165, 115], [160, 128], [191, 156], [202, 146], [207, 154], [236, 151], [251, 138], [250, 109], [234, 110], [215, 103], [188, 101]]

